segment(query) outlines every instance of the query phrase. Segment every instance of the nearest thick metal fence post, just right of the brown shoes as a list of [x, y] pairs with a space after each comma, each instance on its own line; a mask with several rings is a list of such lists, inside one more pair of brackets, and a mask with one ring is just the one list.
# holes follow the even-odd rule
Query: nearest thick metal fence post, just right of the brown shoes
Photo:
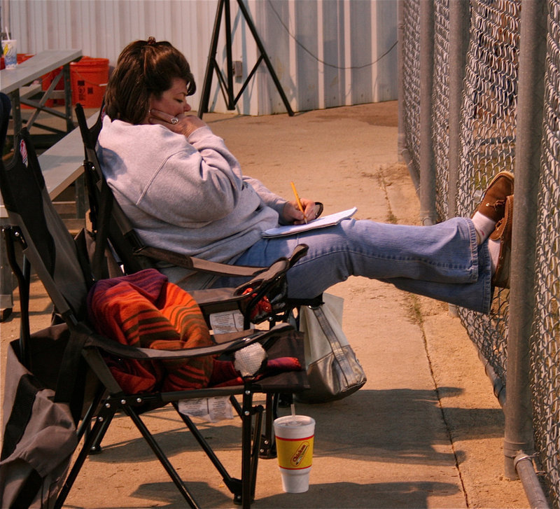
[[517, 478], [514, 458], [533, 452], [530, 385], [534, 309], [535, 235], [542, 142], [547, 2], [524, 0], [519, 39], [519, 94], [515, 144], [515, 199], [510, 271], [505, 396], [505, 475]]

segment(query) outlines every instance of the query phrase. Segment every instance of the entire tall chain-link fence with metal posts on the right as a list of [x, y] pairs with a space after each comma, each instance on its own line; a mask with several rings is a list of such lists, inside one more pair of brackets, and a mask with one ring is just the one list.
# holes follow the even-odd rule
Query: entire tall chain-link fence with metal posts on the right
[[[529, 422], [531, 436], [519, 444], [519, 449], [532, 453], [527, 449], [534, 447], [537, 456], [535, 467], [544, 471], [542, 480], [549, 503], [559, 509], [560, 0], [542, 2], [541, 20], [533, 19], [536, 18], [534, 13], [522, 18], [522, 4], [529, 11], [531, 1], [433, 0], [429, 2], [433, 10], [428, 11], [421, 8], [423, 0], [400, 1], [402, 112], [399, 149], [413, 181], [417, 183], [421, 202], [423, 196], [430, 196], [429, 193], [421, 193], [422, 186], [435, 179], [433, 202], [423, 202], [421, 208], [423, 214], [428, 211], [428, 215], [432, 214], [437, 221], [454, 215], [470, 216], [496, 173], [507, 170], [516, 174], [514, 203], [524, 208], [523, 214], [533, 218], [535, 240], [532, 242], [533, 232], [526, 232], [528, 242], [515, 249], [517, 237], [514, 236], [512, 256], [516, 256], [516, 252], [517, 256], [523, 256], [524, 250], [534, 256], [534, 269], [526, 267], [531, 277], [534, 270], [534, 278], [531, 279], [534, 285], [529, 292], [532, 295], [519, 295], [512, 284], [511, 292], [496, 291], [491, 314], [482, 315], [466, 309], [459, 309], [458, 314], [479, 350], [500, 403], [504, 405], [506, 399], [508, 402], [517, 400], [519, 395], [514, 394], [512, 389], [519, 391], [519, 387], [523, 389], [519, 398], [530, 399], [524, 415], [512, 410], [514, 405], [505, 407], [506, 427], [508, 421], [513, 422], [513, 430], [510, 429], [509, 433], [517, 437], [523, 434], [526, 421]], [[425, 41], [419, 36], [420, 27], [426, 26], [423, 16], [430, 16], [433, 41]], [[531, 32], [534, 26], [530, 26], [529, 30], [522, 32], [526, 25], [538, 22], [547, 29]], [[533, 35], [522, 39], [521, 33]], [[522, 95], [521, 99], [531, 103], [524, 105], [519, 102], [519, 69], [524, 69], [519, 57], [525, 48], [538, 46], [539, 41], [531, 39], [539, 38], [542, 38], [545, 57], [543, 55], [542, 65], [532, 71], [535, 74], [531, 77], [535, 92], [533, 97]], [[419, 65], [419, 62], [425, 61], [426, 52], [431, 54], [433, 69], [423, 69]], [[426, 76], [427, 73], [430, 76]], [[422, 100], [419, 92], [419, 84], [425, 79], [432, 83], [429, 104]], [[544, 83], [541, 95], [538, 94], [538, 83]], [[527, 97], [532, 102], [527, 101]], [[530, 149], [540, 153], [540, 164], [531, 168], [518, 167], [521, 164], [520, 140], [535, 132], [534, 128], [521, 125], [518, 111], [528, 106], [532, 108], [535, 99], [540, 102], [542, 115], [540, 109], [533, 108], [528, 116], [539, 113], [535, 125], [538, 125], [539, 132], [542, 126], [542, 136], [539, 134], [534, 141], [530, 139]], [[421, 144], [423, 139], [419, 133], [425, 132], [430, 132], [430, 146]], [[426, 157], [428, 152], [432, 154], [432, 164], [426, 163], [430, 161]], [[531, 174], [536, 174], [536, 177], [531, 177]], [[426, 175], [430, 175], [432, 180]], [[534, 187], [538, 187], [534, 207], [531, 206], [531, 188], [528, 186], [531, 178], [537, 183]], [[519, 181], [521, 187], [517, 186]], [[514, 210], [514, 221], [517, 214], [520, 214], [519, 209]], [[527, 259], [532, 260], [532, 256]], [[518, 265], [523, 262], [517, 260]], [[515, 307], [517, 310], [519, 304], [521, 309], [529, 310], [525, 312], [524, 319], [530, 324], [531, 333], [522, 337], [528, 351], [526, 358], [517, 355], [523, 349], [514, 344], [523, 334], [517, 329], [510, 330], [510, 309]], [[515, 319], [517, 321], [517, 316]], [[515, 353], [509, 364], [508, 351], [510, 355]], [[526, 370], [517, 369], [517, 363], [522, 367], [526, 365]], [[508, 371], [521, 379], [508, 379]], [[524, 392], [528, 396], [524, 396]], [[508, 412], [513, 415], [513, 418], [509, 416], [509, 420]], [[519, 430], [514, 429], [516, 426]], [[506, 428], [506, 444], [507, 433]], [[515, 449], [518, 440], [513, 442]], [[510, 459], [515, 468], [517, 463], [513, 457]]]

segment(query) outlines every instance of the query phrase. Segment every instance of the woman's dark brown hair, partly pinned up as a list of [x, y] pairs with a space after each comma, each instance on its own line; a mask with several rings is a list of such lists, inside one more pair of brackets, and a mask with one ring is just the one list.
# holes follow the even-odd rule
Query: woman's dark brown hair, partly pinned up
[[149, 101], [169, 90], [174, 78], [187, 82], [188, 95], [196, 91], [195, 78], [183, 53], [167, 41], [134, 41], [119, 55], [105, 92], [105, 111], [111, 120], [141, 124]]

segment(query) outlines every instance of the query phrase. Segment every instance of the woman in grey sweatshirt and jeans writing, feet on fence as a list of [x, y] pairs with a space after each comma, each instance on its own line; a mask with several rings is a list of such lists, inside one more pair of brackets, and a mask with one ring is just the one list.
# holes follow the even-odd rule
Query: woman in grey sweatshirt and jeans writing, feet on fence
[[[146, 244], [259, 266], [307, 244], [307, 255], [288, 273], [291, 298], [313, 298], [349, 276], [362, 276], [487, 313], [493, 287], [508, 286], [511, 174], [500, 172], [491, 181], [472, 218], [433, 226], [346, 219], [299, 235], [262, 238], [279, 223], [314, 219], [315, 202], [303, 199], [302, 214], [295, 202], [244, 176], [223, 139], [189, 114], [187, 99], [194, 92], [186, 58], [153, 38], [123, 50], [107, 86], [99, 159]], [[239, 284], [201, 281], [179, 267], [162, 272], [187, 290]]]

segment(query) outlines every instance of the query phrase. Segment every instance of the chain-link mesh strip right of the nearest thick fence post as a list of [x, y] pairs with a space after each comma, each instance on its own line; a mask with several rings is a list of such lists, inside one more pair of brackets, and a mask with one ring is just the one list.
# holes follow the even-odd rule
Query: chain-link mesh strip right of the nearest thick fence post
[[560, 505], [560, 2], [549, 2], [531, 349], [533, 423]]

